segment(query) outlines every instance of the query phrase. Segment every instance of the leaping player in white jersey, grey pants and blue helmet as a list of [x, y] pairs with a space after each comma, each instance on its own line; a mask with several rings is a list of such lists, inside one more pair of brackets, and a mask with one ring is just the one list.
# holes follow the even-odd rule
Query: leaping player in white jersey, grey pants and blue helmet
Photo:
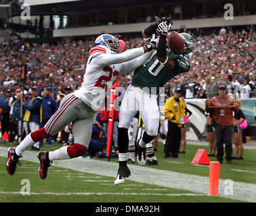
[[[106, 97], [106, 87], [116, 81], [119, 74], [135, 70], [148, 59], [156, 44], [148, 43], [144, 47], [121, 52], [121, 45], [111, 34], [102, 34], [96, 38], [94, 47], [89, 51], [89, 59], [81, 88], [67, 94], [59, 109], [52, 115], [43, 128], [31, 132], [17, 147], [8, 149], [6, 168], [10, 175], [16, 170], [19, 158], [35, 142], [57, 134], [66, 125], [72, 123], [74, 144], [63, 146], [52, 152], [39, 152], [39, 175], [47, 176], [52, 161], [70, 159], [84, 155], [91, 139], [92, 124], [98, 114], [100, 104]], [[145, 54], [144, 54], [145, 53]]]

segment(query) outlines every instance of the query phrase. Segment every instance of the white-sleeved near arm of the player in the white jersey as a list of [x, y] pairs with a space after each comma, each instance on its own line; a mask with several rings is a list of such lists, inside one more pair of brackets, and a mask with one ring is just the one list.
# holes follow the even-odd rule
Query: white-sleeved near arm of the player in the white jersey
[[139, 57], [140, 55], [144, 54], [143, 47], [135, 48], [135, 49], [129, 49], [123, 53], [120, 54], [106, 54], [102, 53], [98, 55], [97, 57], [93, 58], [95, 64], [98, 65], [111, 65], [115, 63], [122, 63], [125, 61], [130, 61], [131, 59], [135, 59], [136, 57]]

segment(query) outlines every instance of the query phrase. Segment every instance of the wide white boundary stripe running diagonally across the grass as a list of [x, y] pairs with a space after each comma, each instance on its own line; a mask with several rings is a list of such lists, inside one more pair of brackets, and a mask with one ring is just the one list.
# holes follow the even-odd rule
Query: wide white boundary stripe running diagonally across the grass
[[[7, 148], [0, 147], [0, 156], [7, 157]], [[39, 163], [37, 153], [34, 151], [25, 151], [20, 161], [30, 161]], [[109, 161], [98, 161], [94, 159], [69, 159], [54, 161], [53, 166], [62, 167], [64, 169], [73, 169], [85, 173], [93, 173], [96, 175], [105, 175], [116, 178], [116, 173], [119, 168], [118, 163]], [[199, 175], [191, 175], [185, 173], [177, 173], [150, 167], [138, 165], [128, 165], [131, 170], [131, 176], [127, 180], [140, 182], [144, 184], [153, 184], [167, 188], [176, 188], [188, 190], [198, 194], [208, 194], [209, 178]], [[17, 167], [17, 171], [18, 171]], [[48, 171], [48, 178], [51, 175], [51, 167]], [[244, 175], [244, 173], [242, 174]], [[126, 183], [126, 182], [125, 182]], [[219, 196], [232, 198], [234, 200], [242, 200], [247, 202], [256, 202], [256, 184], [247, 184], [244, 182], [232, 182], [233, 195], [226, 195], [225, 188], [227, 187], [225, 180], [219, 180]], [[124, 184], [125, 185], [125, 184]]]

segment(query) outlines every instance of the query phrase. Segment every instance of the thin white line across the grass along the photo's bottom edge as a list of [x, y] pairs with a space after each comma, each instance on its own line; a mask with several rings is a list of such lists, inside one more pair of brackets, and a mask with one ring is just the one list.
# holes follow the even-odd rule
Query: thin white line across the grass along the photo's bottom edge
[[[0, 192], [0, 194], [22, 194], [21, 192]], [[208, 196], [207, 194], [148, 194], [148, 193], [95, 193], [95, 192], [74, 192], [74, 193], [54, 193], [54, 192], [30, 192], [30, 195], [142, 195], [142, 196]]]

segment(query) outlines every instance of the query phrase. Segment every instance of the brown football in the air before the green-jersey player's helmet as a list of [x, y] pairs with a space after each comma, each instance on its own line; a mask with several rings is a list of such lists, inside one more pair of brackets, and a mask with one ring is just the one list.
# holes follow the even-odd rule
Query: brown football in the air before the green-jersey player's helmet
[[180, 55], [184, 51], [184, 39], [178, 32], [172, 31], [168, 36], [168, 45], [173, 53]]

